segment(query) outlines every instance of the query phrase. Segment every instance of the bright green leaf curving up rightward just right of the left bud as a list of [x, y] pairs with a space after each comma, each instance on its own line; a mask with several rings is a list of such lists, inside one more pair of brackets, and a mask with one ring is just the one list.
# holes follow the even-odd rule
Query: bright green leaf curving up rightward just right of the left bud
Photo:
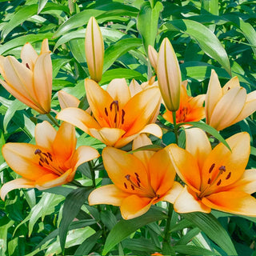
[[108, 47], [104, 54], [103, 72], [110, 68], [110, 66], [128, 50], [142, 46], [142, 40], [139, 38], [125, 38], [110, 47]]

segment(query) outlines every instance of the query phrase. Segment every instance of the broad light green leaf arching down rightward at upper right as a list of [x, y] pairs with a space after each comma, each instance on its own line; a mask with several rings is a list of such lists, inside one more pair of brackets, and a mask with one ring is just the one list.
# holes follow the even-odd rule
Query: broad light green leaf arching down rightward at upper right
[[194, 38], [201, 49], [209, 55], [210, 58], [214, 58], [229, 74], [231, 74], [230, 61], [226, 54], [226, 50], [223, 48], [222, 43], [219, 42], [216, 35], [206, 26], [189, 19], [166, 22], [164, 26], [169, 30], [178, 30], [191, 38]]

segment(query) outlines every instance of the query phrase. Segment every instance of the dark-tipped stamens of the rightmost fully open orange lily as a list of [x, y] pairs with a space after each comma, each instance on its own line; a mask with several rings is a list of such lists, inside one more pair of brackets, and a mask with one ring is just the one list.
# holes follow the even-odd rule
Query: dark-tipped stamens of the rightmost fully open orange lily
[[220, 186], [224, 180], [228, 180], [231, 177], [231, 172], [226, 172], [226, 166], [220, 166], [217, 171], [213, 172], [214, 168], [215, 163], [210, 166], [208, 171], [210, 177], [208, 178], [207, 186], [198, 194], [199, 199], [211, 194], [213, 186]]

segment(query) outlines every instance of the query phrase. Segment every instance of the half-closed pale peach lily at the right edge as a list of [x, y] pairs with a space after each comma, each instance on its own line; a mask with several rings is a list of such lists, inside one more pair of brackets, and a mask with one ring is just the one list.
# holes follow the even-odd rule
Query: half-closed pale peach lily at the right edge
[[256, 110], [256, 91], [246, 94], [237, 77], [231, 78], [223, 88], [218, 75], [211, 71], [206, 94], [206, 123], [216, 130], [228, 126], [253, 114]]

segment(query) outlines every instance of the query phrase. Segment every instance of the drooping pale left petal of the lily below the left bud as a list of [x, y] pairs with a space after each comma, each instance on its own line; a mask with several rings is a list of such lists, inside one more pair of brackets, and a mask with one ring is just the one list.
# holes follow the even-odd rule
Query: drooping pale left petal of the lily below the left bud
[[78, 109], [77, 107], [67, 107], [59, 112], [56, 118], [77, 126], [79, 129], [86, 132], [86, 134], [89, 133], [89, 128], [100, 129], [98, 122], [96, 122], [90, 114], [86, 113], [84, 110]]

